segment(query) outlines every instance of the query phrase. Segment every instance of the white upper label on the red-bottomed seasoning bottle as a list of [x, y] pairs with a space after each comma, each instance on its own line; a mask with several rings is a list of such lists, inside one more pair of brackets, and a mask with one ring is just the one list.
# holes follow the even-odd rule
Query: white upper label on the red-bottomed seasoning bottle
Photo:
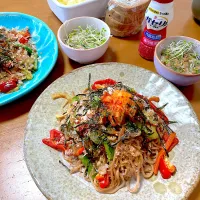
[[162, 4], [151, 1], [145, 14], [147, 29], [162, 30], [172, 21], [173, 16], [173, 2]]

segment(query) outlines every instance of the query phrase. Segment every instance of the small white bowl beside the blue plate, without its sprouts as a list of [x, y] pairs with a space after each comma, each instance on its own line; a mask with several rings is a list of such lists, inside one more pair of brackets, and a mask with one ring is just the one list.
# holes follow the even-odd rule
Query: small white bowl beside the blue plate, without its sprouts
[[[93, 49], [73, 49], [64, 43], [66, 36], [78, 26], [86, 28], [87, 25], [93, 26], [99, 31], [104, 28], [106, 30], [106, 41]], [[81, 63], [88, 64], [99, 59], [107, 50], [110, 39], [110, 28], [108, 25], [100, 19], [94, 17], [77, 17], [66, 21], [60, 26], [57, 33], [58, 41], [64, 53], [72, 60]]]

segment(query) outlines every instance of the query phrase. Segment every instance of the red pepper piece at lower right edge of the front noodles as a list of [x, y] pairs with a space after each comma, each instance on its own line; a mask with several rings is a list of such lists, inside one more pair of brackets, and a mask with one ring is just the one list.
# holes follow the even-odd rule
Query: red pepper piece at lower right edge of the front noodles
[[164, 156], [160, 159], [159, 170], [164, 179], [169, 179], [176, 171], [176, 167]]

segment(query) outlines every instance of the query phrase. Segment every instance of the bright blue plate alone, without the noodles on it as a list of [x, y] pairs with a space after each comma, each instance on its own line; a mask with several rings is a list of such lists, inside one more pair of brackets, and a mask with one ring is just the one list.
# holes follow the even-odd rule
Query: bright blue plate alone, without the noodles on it
[[40, 19], [18, 12], [1, 12], [0, 26], [8, 29], [29, 28], [39, 55], [38, 69], [33, 79], [24, 81], [18, 91], [0, 93], [0, 106], [10, 103], [37, 87], [53, 69], [58, 57], [58, 44], [53, 31]]

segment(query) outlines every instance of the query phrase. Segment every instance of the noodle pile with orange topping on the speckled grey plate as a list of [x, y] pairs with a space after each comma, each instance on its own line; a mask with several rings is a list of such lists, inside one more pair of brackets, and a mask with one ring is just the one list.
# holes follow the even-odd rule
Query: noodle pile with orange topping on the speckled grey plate
[[62, 151], [71, 173], [84, 173], [98, 192], [114, 193], [124, 186], [137, 192], [141, 176], [157, 174], [160, 158], [173, 148], [170, 121], [152, 103], [158, 97], [144, 97], [106, 79], [73, 97], [59, 93], [53, 98], [67, 101], [56, 116], [60, 130], [51, 130], [43, 143]]

